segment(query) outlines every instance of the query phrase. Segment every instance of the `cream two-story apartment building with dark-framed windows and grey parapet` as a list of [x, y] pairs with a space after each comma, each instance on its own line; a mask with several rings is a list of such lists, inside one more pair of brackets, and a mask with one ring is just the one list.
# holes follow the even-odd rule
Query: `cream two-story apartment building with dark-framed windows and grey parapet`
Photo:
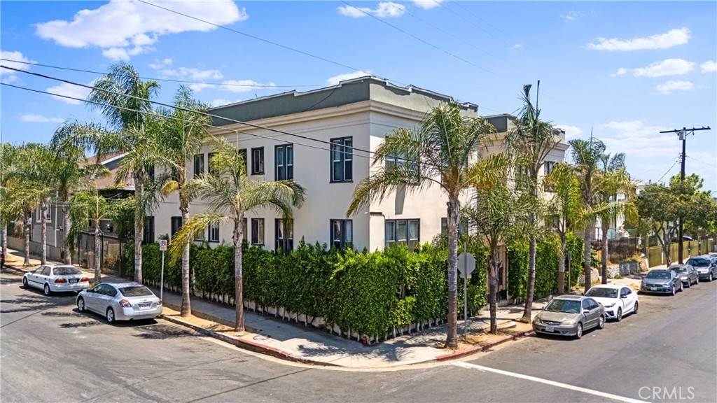
[[[358, 181], [374, 169], [373, 155], [365, 150], [375, 150], [395, 128], [419, 127], [426, 113], [451, 100], [419, 87], [399, 87], [377, 77], [361, 77], [305, 93], [291, 91], [210, 110], [227, 118], [214, 119], [213, 124], [222, 129], [214, 129], [212, 134], [225, 136], [244, 152], [247, 174], [252, 179], [293, 179], [307, 192], [304, 206], [294, 212], [290, 230], [275, 212], [256, 210], [247, 214], [245, 239], [250, 245], [269, 250], [293, 249], [302, 237], [309, 243], [336, 247], [351, 244], [356, 250], [369, 251], [394, 243], [412, 248], [430, 242], [445, 228], [447, 217], [447, 196], [438, 186], [428, 186], [420, 194], [392, 192], [384, 201], [374, 202], [352, 217], [346, 217], [346, 209]], [[478, 105], [461, 106], [466, 115], [478, 116]], [[489, 117], [499, 131], [511, 119], [511, 115]], [[560, 133], [564, 143], [564, 132]], [[551, 153], [551, 161], [561, 161], [565, 148]], [[205, 147], [194, 156], [194, 174], [211, 169], [211, 153]], [[168, 196], [148, 220], [146, 232], [153, 238], [174, 234], [181, 227], [178, 207], [178, 196]], [[203, 202], [196, 200], [190, 214], [204, 209]], [[199, 240], [209, 245], [229, 244], [232, 228], [207, 228]]]

